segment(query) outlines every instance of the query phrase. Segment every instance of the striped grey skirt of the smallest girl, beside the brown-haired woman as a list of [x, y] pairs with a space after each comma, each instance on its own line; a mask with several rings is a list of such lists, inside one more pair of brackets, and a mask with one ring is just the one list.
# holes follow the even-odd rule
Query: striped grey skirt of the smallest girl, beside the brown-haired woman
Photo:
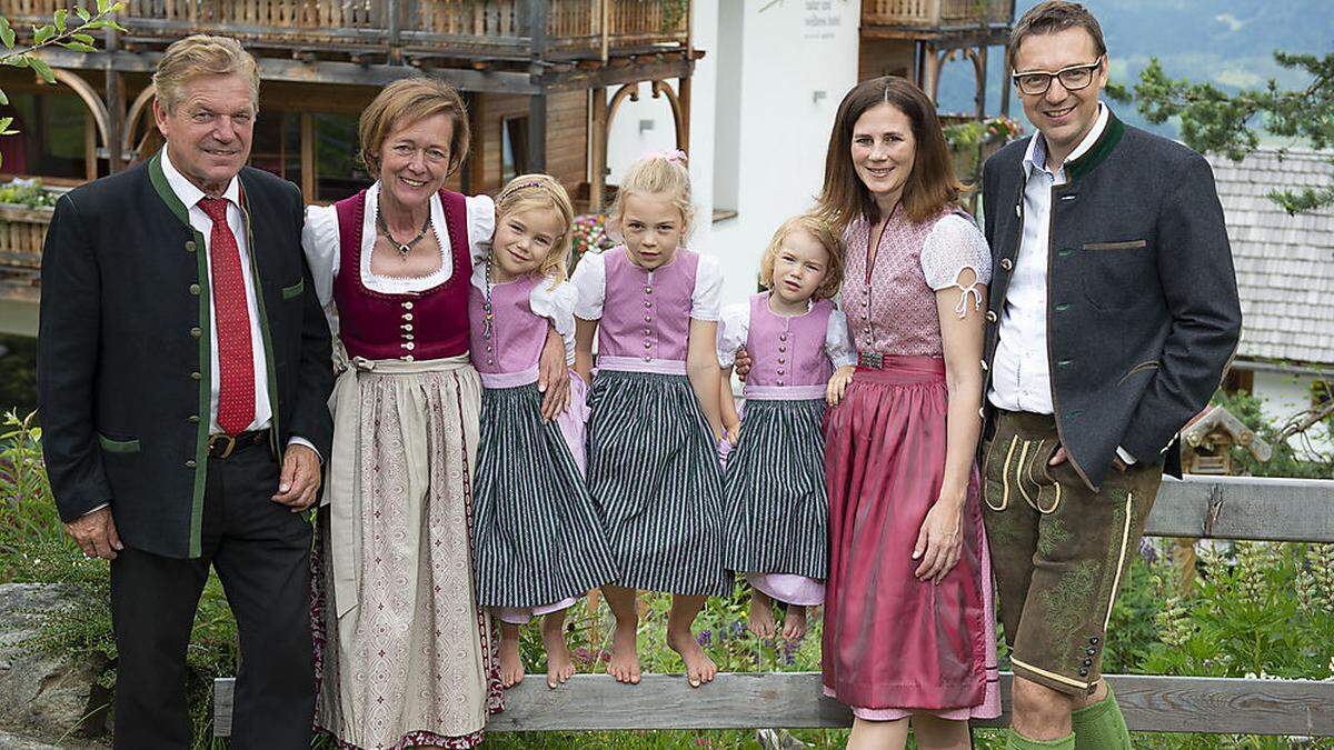
[[824, 399], [747, 400], [727, 456], [727, 570], [824, 579]]

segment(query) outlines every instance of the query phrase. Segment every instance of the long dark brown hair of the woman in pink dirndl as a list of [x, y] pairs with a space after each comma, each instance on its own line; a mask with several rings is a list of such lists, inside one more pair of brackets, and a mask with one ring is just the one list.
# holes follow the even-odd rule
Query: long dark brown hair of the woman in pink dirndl
[[871, 223], [882, 219], [875, 198], [852, 168], [852, 127], [867, 109], [880, 104], [892, 105], [912, 123], [916, 153], [902, 198], [910, 219], [930, 219], [967, 190], [954, 176], [954, 157], [935, 116], [935, 104], [927, 95], [899, 76], [862, 81], [847, 92], [838, 107], [824, 155], [824, 187], [816, 199], [820, 218], [839, 234], [858, 216], [866, 216]]

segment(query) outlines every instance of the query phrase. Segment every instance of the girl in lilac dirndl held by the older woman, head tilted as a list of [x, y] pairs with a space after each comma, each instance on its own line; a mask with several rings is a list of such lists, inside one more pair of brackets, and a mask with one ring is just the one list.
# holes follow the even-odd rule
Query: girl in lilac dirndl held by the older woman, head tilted
[[538, 359], [555, 326], [574, 362], [576, 292], [566, 282], [570, 198], [547, 175], [515, 177], [496, 198], [491, 251], [468, 290], [470, 350], [482, 376], [474, 519], [478, 605], [500, 621], [500, 678], [523, 679], [519, 626], [546, 615], [547, 685], [574, 675], [564, 610], [616, 578], [606, 530], [584, 488], [584, 382], [571, 406], [542, 416]]

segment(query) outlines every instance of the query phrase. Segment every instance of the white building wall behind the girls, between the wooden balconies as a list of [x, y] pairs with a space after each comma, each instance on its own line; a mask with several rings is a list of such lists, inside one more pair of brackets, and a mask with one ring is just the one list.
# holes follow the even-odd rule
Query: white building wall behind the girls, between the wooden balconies
[[[692, 81], [691, 247], [722, 262], [724, 303], [755, 291], [774, 230], [810, 208], [819, 191], [834, 113], [856, 83], [860, 12], [859, 0], [695, 4], [695, 47], [706, 56]], [[647, 119], [655, 124], [643, 129]], [[671, 148], [672, 136], [667, 103], [654, 101], [644, 85], [640, 101], [626, 101], [612, 123], [608, 181], [646, 151]], [[715, 175], [719, 168], [735, 169], [735, 183]], [[715, 188], [722, 188], [716, 199]], [[738, 216], [712, 224], [715, 206]]]

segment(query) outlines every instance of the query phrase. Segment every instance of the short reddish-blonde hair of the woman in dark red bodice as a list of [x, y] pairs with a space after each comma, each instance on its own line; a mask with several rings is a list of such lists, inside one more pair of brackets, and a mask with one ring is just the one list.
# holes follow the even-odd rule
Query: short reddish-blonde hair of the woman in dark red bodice
[[468, 127], [468, 108], [452, 85], [427, 76], [399, 79], [384, 87], [362, 112], [358, 135], [362, 140], [362, 161], [376, 177], [380, 172], [380, 148], [395, 128], [410, 125], [439, 113], [450, 116], [454, 135], [450, 137], [450, 172], [468, 157], [472, 129]]

